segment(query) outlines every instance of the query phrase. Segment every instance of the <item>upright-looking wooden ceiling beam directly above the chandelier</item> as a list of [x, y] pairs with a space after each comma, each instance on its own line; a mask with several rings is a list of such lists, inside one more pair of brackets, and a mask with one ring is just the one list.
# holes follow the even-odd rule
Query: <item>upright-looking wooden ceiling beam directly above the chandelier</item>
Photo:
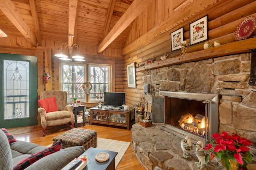
[[74, 38], [68, 36], [68, 45], [71, 47], [73, 41], [76, 42], [76, 25], [78, 18], [78, 0], [69, 0], [68, 8], [68, 35], [74, 35]]

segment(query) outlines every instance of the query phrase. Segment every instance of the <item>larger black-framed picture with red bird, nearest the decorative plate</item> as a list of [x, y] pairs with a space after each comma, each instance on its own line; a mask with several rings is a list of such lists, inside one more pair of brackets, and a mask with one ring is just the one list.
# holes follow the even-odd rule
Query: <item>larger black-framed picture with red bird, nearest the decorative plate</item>
[[190, 45], [208, 39], [208, 15], [190, 23]]

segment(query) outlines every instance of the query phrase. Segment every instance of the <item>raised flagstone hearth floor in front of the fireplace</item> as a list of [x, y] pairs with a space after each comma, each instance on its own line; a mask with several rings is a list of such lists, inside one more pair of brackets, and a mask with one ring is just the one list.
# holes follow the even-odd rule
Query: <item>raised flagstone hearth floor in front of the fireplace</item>
[[[192, 158], [184, 158], [180, 147], [182, 138], [172, 135], [158, 125], [142, 127], [139, 123], [132, 125], [132, 147], [134, 152], [148, 170], [200, 170], [195, 162], [196, 145], [190, 152]], [[221, 170], [218, 161], [210, 162], [204, 170]]]

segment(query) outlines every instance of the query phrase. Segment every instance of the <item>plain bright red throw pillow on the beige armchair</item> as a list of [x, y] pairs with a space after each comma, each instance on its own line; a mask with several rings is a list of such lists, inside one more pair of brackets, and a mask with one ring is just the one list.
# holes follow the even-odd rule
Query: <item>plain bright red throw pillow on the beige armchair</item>
[[59, 110], [55, 97], [40, 99], [38, 103], [45, 109], [46, 113]]

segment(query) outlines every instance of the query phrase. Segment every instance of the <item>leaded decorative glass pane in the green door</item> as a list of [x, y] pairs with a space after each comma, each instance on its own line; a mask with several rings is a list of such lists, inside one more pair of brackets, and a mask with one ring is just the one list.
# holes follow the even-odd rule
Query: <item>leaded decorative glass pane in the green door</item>
[[29, 62], [4, 60], [4, 120], [30, 117]]

